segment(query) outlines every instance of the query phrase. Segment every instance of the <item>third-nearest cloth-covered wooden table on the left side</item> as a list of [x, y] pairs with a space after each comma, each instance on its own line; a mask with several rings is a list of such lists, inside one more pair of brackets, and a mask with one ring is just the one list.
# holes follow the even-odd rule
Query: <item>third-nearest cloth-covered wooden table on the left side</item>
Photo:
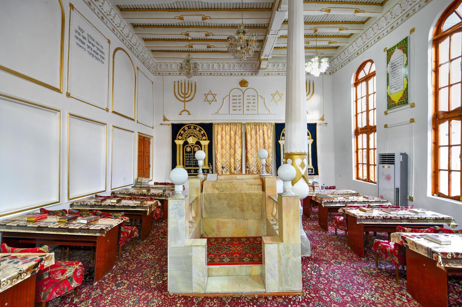
[[142, 204], [135, 204], [134, 200], [122, 199], [120, 203], [111, 203], [110, 199], [102, 202], [96, 202], [96, 197], [80, 199], [70, 204], [71, 209], [77, 210], [99, 210], [107, 212], [123, 212], [129, 219], [141, 221], [141, 241], [151, 234], [152, 230], [152, 212], [160, 202], [158, 200], [146, 200]]

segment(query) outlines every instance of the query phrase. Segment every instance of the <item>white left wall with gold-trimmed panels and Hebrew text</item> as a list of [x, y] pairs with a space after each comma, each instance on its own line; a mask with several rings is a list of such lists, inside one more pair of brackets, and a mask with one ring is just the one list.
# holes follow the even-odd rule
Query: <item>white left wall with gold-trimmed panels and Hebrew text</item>
[[[27, 1], [34, 2], [34, 6], [20, 6], [17, 1], [7, 0], [0, 4], [0, 20], [16, 18], [10, 20], [7, 27], [1, 27], [8, 31], [5, 38], [14, 38], [14, 45], [6, 44], [7, 48], [2, 48], [0, 52], [0, 65], [14, 66], [24, 74], [30, 74], [33, 78], [47, 81], [50, 85], [59, 90], [59, 66], [60, 66], [60, 41], [59, 35], [61, 25], [61, 9], [58, 0], [49, 1]], [[46, 4], [45, 4], [46, 3]], [[136, 56], [112, 33], [112, 31], [98, 18], [97, 15], [88, 7], [83, 0], [72, 1], [73, 6], [81, 12], [93, 24], [103, 36], [110, 40], [110, 50], [106, 52], [106, 61], [109, 62], [109, 72], [104, 73], [107, 80], [102, 84], [109, 84], [109, 112], [97, 108], [79, 100], [66, 97], [67, 90], [67, 51], [69, 36], [69, 1], [63, 0], [64, 9], [64, 50], [63, 50], [63, 70], [62, 70], [62, 92], [52, 90], [42, 85], [35, 84], [24, 78], [19, 78], [13, 74], [0, 70], [0, 92], [8, 96], [15, 96], [19, 99], [34, 102], [43, 106], [54, 108], [58, 111], [34, 107], [31, 104], [12, 102], [11, 100], [0, 97], [0, 114], [9, 116], [4, 118], [0, 131], [0, 193], [2, 195], [12, 195], [11, 198], [3, 198], [0, 201], [0, 215], [10, 212], [55, 202], [49, 209], [68, 208], [68, 114], [75, 114], [81, 117], [97, 120], [107, 125], [100, 125], [91, 121], [77, 120], [71, 117], [71, 148], [73, 149], [70, 157], [71, 161], [71, 187], [70, 198], [86, 193], [105, 190], [106, 193], [111, 189], [111, 175], [113, 187], [130, 185], [136, 176], [136, 144], [133, 134], [137, 131], [153, 135], [151, 127], [142, 125], [134, 120], [129, 120], [111, 112], [111, 92], [112, 82], [112, 54], [115, 48], [125, 49], [133, 61], [135, 70], [139, 67], [140, 72], [152, 80], [152, 73], [142, 65]], [[44, 7], [40, 6], [43, 5]], [[34, 12], [24, 11], [27, 9]], [[20, 10], [16, 12], [16, 10]], [[42, 14], [43, 12], [46, 12]], [[16, 12], [16, 13], [14, 13]], [[54, 14], [54, 15], [53, 15]], [[7, 16], [4, 16], [7, 15]], [[11, 19], [10, 18], [10, 19]], [[38, 18], [34, 20], [34, 18]], [[42, 18], [42, 19], [40, 19]], [[33, 20], [33, 22], [31, 21]], [[52, 23], [52, 27], [50, 26]], [[14, 26], [11, 24], [24, 25]], [[51, 30], [49, 30], [51, 29]], [[35, 35], [35, 31], [37, 34]], [[73, 35], [71, 29], [71, 35]], [[58, 41], [56, 43], [56, 41]], [[72, 42], [72, 41], [71, 41]], [[49, 50], [50, 49], [50, 50]], [[117, 54], [122, 52], [117, 52]], [[125, 55], [125, 53], [123, 53]], [[126, 55], [125, 55], [126, 56]], [[118, 90], [127, 90], [128, 93], [120, 92], [119, 96], [129, 97], [129, 106], [122, 105], [123, 101], [117, 101], [118, 111], [133, 117], [134, 109], [134, 67], [130, 61], [125, 68], [120, 67], [116, 70], [116, 81], [126, 80], [130, 83], [126, 89], [119, 87]], [[100, 63], [95, 62], [94, 69]], [[116, 69], [118, 68], [116, 61]], [[74, 71], [82, 70], [82, 67], [74, 66]], [[95, 75], [94, 69], [80, 71], [85, 76]], [[127, 73], [124, 76], [121, 73]], [[152, 92], [151, 82], [145, 80], [144, 86], [148, 89], [137, 90], [143, 93]], [[97, 85], [94, 85], [97, 86]], [[94, 91], [99, 90], [95, 88]], [[91, 90], [89, 91], [91, 94]], [[71, 94], [74, 94], [71, 92]], [[125, 95], [126, 94], [126, 95]], [[144, 94], [143, 106], [138, 108], [139, 113], [143, 113], [143, 123], [152, 123], [149, 115], [152, 114], [152, 96]], [[146, 101], [151, 99], [151, 106]], [[99, 102], [98, 104], [106, 104]], [[146, 108], [146, 109], [144, 109]], [[127, 110], [127, 111], [126, 111]], [[59, 112], [61, 111], [61, 122]], [[128, 112], [129, 111], [129, 112]], [[151, 115], [152, 116], [152, 115]], [[61, 124], [61, 126], [60, 126]], [[128, 131], [115, 129], [116, 143], [111, 144], [112, 126], [127, 129]], [[61, 128], [61, 133], [59, 131]], [[132, 133], [133, 132], [133, 133]], [[86, 134], [85, 134], [86, 133]], [[87, 135], [87, 137], [85, 137]], [[59, 138], [61, 136], [61, 138]], [[107, 139], [107, 142], [106, 142]], [[61, 152], [58, 156], [58, 146], [61, 142]], [[127, 150], [128, 147], [128, 150]], [[115, 155], [112, 148], [118, 149]], [[103, 155], [103, 156], [101, 156]], [[59, 158], [58, 158], [59, 157]], [[112, 159], [111, 159], [112, 157]], [[82, 163], [82, 159], [86, 163]], [[56, 160], [56, 161], [55, 161]], [[58, 161], [60, 164], [58, 164]], [[112, 162], [111, 162], [112, 161]], [[77, 163], [77, 164], [75, 164]], [[111, 163], [113, 165], [111, 165]], [[135, 164], [134, 164], [135, 163]], [[6, 167], [9, 166], [9, 167]], [[77, 166], [77, 168], [75, 168]], [[112, 166], [115, 171], [112, 172]], [[116, 178], [115, 178], [116, 177]], [[91, 187], [88, 185], [91, 184]], [[58, 192], [59, 191], [59, 192]], [[8, 202], [11, 208], [6, 208]], [[7, 216], [1, 217], [5, 218]]]

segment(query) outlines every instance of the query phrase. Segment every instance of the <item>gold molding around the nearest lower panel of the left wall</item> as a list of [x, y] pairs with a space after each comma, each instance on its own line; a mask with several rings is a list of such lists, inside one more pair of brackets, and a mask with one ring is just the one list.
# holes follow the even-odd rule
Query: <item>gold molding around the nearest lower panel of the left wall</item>
[[49, 205], [54, 205], [54, 204], [61, 203], [61, 110], [55, 109], [55, 108], [50, 108], [50, 107], [47, 107], [45, 105], [42, 105], [42, 104], [39, 104], [39, 103], [36, 103], [36, 102], [31, 102], [29, 100], [25, 100], [25, 99], [18, 98], [18, 97], [15, 97], [15, 96], [10, 96], [8, 94], [0, 93], [0, 97], [4, 97], [4, 98], [6, 98], [8, 100], [12, 100], [12, 101], [15, 101], [15, 102], [23, 103], [26, 106], [33, 106], [33, 107], [37, 107], [37, 108], [50, 110], [50, 111], [56, 112], [56, 114], [58, 114], [58, 153], [57, 153], [58, 174], [57, 174], [57, 180], [56, 180], [58, 182], [58, 197], [57, 197], [57, 200], [52, 200], [52, 201], [49, 201], [49, 202], [47, 202], [45, 204], [34, 204], [34, 205], [31, 205], [31, 206], [28, 206], [27, 208], [17, 210], [17, 211], [2, 213], [2, 214], [0, 214], [0, 217], [5, 217], [7, 215], [20, 213], [20, 212], [24, 212], [24, 211], [27, 211], [27, 210], [33, 210], [33, 209], [37, 209], [37, 208], [46, 207], [46, 206], [49, 206]]

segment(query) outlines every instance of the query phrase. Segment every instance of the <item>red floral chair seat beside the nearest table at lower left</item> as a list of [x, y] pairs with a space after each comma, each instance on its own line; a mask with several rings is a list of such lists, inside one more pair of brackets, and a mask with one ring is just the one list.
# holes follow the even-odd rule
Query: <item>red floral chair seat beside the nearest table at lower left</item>
[[[50, 301], [82, 284], [85, 268], [80, 261], [56, 261], [37, 273], [36, 301]], [[45, 272], [46, 271], [46, 272]]]

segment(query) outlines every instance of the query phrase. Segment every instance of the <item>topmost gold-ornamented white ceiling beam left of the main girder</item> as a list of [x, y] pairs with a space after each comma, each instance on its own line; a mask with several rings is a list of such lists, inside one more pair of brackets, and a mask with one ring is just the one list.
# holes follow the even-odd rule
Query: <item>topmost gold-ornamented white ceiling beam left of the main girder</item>
[[[121, 12], [128, 23], [178, 24], [184, 21], [213, 24], [240, 24], [241, 12]], [[243, 12], [245, 24], [267, 24], [269, 12]]]

